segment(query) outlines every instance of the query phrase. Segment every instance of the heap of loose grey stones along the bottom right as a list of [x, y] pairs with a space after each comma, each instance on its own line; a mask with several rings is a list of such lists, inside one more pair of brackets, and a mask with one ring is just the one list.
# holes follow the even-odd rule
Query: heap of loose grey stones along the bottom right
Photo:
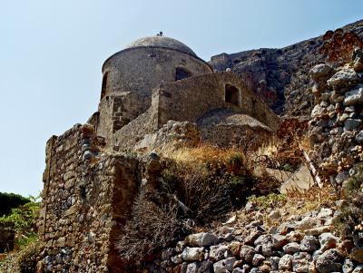
[[332, 220], [337, 211], [322, 208], [265, 229], [260, 211], [245, 209], [254, 220], [243, 229], [224, 225], [215, 233], [191, 234], [175, 248], [164, 249], [144, 272], [363, 272], [363, 249], [338, 239]]

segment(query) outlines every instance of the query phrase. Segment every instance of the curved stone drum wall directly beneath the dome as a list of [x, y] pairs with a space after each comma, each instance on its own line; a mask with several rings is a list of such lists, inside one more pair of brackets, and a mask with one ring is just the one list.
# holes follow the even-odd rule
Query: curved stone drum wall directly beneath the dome
[[125, 49], [113, 54], [103, 64], [103, 94], [135, 92], [152, 94], [160, 83], [175, 81], [176, 68], [191, 75], [211, 73], [211, 67], [198, 57], [183, 52], [156, 47]]

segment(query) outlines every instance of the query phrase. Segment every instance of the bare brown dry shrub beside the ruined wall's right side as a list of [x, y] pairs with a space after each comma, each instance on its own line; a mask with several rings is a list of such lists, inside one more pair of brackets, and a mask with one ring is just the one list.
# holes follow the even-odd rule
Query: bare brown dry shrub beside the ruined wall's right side
[[144, 260], [153, 252], [167, 247], [182, 231], [177, 206], [165, 202], [156, 192], [140, 193], [130, 219], [119, 236], [116, 249], [123, 260]]

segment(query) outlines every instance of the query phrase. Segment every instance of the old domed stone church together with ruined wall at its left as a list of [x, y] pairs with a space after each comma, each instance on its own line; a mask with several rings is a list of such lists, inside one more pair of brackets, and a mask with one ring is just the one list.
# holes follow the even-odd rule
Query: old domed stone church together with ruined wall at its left
[[123, 151], [152, 145], [171, 121], [221, 147], [247, 133], [259, 144], [280, 124], [236, 75], [213, 72], [172, 38], [145, 37], [113, 54], [103, 63], [98, 111], [46, 144], [42, 272], [125, 272], [113, 242], [150, 159]]

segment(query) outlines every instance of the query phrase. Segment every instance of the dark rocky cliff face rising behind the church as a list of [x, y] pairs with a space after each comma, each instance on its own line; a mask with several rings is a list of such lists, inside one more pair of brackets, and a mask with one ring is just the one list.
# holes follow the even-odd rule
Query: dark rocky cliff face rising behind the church
[[318, 63], [346, 63], [354, 47], [363, 47], [363, 20], [335, 32], [281, 49], [261, 48], [211, 57], [217, 71], [231, 69], [273, 111], [288, 116], [309, 116], [313, 106], [309, 70]]

